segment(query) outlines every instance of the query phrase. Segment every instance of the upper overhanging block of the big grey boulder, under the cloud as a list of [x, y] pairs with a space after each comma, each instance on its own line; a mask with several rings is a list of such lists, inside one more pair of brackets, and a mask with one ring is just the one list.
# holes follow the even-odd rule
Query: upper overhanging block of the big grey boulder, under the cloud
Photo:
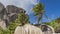
[[9, 14], [10, 13], [17, 13], [17, 14], [19, 14], [19, 13], [24, 13], [25, 12], [24, 9], [16, 7], [14, 5], [8, 5], [6, 7], [6, 10], [7, 10], [7, 13], [9, 13]]

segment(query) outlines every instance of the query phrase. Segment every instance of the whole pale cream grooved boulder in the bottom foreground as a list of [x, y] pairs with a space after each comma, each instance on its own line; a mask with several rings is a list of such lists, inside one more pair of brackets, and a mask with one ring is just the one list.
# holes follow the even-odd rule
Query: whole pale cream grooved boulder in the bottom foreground
[[14, 34], [43, 34], [42, 30], [30, 24], [25, 24], [24, 26], [18, 26]]

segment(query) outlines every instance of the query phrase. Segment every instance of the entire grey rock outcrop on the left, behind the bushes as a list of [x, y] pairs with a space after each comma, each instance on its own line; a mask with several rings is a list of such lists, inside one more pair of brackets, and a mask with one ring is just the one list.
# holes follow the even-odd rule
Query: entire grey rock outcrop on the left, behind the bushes
[[16, 20], [20, 13], [25, 13], [25, 10], [14, 5], [8, 5], [5, 8], [5, 6], [0, 3], [0, 26], [5, 29], [9, 25], [9, 22]]

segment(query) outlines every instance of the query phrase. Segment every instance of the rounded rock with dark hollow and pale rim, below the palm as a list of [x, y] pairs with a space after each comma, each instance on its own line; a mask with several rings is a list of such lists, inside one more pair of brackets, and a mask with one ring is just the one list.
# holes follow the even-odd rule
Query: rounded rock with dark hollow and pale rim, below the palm
[[44, 34], [55, 34], [53, 27], [45, 24], [42, 24], [41, 27]]

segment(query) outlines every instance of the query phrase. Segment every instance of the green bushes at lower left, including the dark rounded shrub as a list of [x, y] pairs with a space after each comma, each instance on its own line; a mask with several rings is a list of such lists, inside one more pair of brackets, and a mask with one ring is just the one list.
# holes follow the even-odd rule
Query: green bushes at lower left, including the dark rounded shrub
[[0, 34], [14, 34], [15, 28], [17, 26], [24, 25], [26, 22], [28, 22], [28, 20], [28, 16], [24, 13], [21, 13], [14, 22], [9, 23], [6, 31], [0, 27]]

